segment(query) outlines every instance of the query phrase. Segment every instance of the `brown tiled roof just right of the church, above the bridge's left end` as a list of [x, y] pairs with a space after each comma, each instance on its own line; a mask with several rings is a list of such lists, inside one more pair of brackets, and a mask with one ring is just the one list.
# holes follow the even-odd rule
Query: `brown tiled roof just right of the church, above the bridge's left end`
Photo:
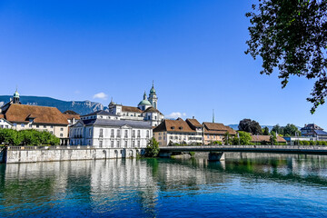
[[163, 120], [161, 124], [154, 128], [154, 132], [177, 132], [177, 133], [194, 133], [195, 131], [183, 121], [178, 118], [177, 120]]

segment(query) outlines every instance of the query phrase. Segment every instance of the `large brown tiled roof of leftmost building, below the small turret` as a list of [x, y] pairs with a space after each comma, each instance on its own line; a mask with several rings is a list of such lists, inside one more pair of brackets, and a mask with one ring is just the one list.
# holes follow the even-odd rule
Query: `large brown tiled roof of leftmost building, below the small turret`
[[34, 118], [35, 124], [68, 124], [64, 114], [56, 107], [10, 104], [4, 114], [11, 123], [28, 123], [29, 118]]

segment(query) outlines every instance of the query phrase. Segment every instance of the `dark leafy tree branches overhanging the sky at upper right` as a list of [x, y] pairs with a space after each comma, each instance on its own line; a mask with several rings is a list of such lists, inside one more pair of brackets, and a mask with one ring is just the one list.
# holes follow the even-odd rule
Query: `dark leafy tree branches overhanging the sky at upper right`
[[327, 1], [259, 0], [253, 5], [245, 54], [263, 59], [261, 74], [279, 70], [282, 88], [290, 75], [315, 79], [312, 114], [327, 95]]

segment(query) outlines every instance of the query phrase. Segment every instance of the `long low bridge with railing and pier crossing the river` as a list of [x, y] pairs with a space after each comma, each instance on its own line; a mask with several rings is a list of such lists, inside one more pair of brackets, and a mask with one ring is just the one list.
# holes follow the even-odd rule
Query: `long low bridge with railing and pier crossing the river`
[[209, 152], [209, 160], [223, 160], [224, 153], [271, 153], [271, 154], [316, 154], [327, 155], [323, 145], [201, 145], [160, 147], [160, 156], [173, 153]]

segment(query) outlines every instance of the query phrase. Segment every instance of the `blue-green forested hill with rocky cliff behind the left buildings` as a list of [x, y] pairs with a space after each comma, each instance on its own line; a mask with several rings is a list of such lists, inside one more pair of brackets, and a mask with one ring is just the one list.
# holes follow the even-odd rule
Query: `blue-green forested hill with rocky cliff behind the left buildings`
[[[8, 103], [12, 97], [12, 95], [0, 95], [0, 106]], [[22, 104], [56, 107], [61, 112], [72, 110], [78, 114], [89, 114], [106, 109], [106, 107], [100, 103], [90, 101], [66, 102], [51, 97], [20, 96], [20, 101]]]

